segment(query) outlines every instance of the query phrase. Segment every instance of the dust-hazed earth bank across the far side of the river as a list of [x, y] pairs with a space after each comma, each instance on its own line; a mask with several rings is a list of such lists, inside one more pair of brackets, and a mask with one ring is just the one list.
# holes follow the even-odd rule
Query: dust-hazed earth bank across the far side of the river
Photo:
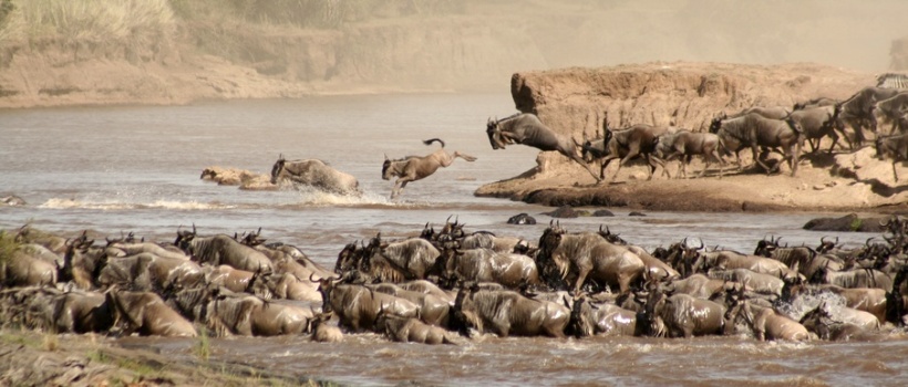
[[0, 107], [507, 93], [517, 72], [654, 61], [813, 62], [874, 74], [890, 70], [892, 41], [908, 35], [902, 0], [351, 0], [331, 4], [371, 13], [330, 28], [249, 20], [220, 3], [166, 4], [176, 3], [198, 9], [175, 13], [152, 45], [78, 34], [3, 41]]

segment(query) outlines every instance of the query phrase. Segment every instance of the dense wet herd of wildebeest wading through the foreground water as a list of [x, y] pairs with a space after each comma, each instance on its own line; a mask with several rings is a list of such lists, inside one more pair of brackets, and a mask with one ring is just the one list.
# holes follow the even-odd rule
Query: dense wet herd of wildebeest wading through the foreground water
[[[96, 243], [24, 226], [4, 232], [0, 322], [114, 336], [311, 335], [375, 332], [399, 342], [463, 343], [476, 334], [551, 337], [753, 335], [863, 339], [900, 330], [908, 219], [846, 249], [837, 238], [752, 253], [680, 240], [647, 251], [608, 227], [538, 241], [426, 223], [412, 237], [352, 241], [333, 270], [261, 230], [172, 242], [133, 234]], [[809, 311], [792, 305], [825, 300]], [[203, 330], [204, 327], [204, 330]]]

